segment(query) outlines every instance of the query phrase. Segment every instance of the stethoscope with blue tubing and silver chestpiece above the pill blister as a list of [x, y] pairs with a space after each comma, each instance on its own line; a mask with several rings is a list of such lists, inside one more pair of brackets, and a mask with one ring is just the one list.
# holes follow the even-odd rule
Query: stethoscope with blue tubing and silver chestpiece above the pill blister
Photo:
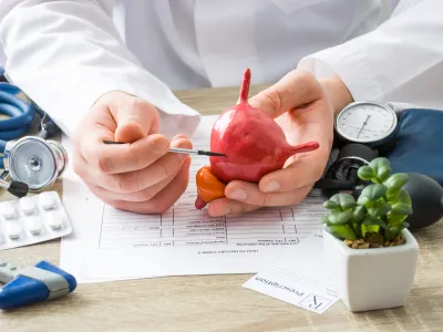
[[[1, 76], [1, 72], [0, 72]], [[3, 80], [4, 81], [4, 80]], [[55, 183], [68, 165], [64, 147], [50, 136], [60, 129], [49, 116], [19, 87], [0, 82], [0, 187], [17, 197], [41, 191]], [[40, 128], [35, 136], [28, 133], [35, 116]]]

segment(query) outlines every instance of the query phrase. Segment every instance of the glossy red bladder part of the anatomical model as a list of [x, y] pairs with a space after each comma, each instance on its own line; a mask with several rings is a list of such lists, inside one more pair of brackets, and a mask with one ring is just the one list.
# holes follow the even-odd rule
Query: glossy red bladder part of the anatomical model
[[[288, 144], [274, 118], [248, 104], [249, 84], [247, 69], [238, 103], [222, 113], [210, 134], [210, 151], [226, 155], [209, 158], [210, 173], [225, 184], [235, 179], [258, 183], [264, 175], [282, 168], [290, 156], [319, 147], [316, 142]], [[202, 200], [209, 201], [200, 196], [197, 200], [197, 208], [203, 208]]]

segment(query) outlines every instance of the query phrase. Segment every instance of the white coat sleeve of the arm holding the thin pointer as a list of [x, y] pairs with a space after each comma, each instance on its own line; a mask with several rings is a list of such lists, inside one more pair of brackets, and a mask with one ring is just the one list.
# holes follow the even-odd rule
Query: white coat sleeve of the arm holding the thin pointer
[[161, 132], [190, 136], [199, 114], [144, 70], [112, 20], [113, 0], [0, 0], [0, 44], [8, 79], [70, 135], [104, 93], [125, 91], [154, 104]]

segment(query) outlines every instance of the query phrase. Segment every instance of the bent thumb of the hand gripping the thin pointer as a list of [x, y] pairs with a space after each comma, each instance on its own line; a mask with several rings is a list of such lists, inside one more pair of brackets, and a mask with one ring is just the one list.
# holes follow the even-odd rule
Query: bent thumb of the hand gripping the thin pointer
[[132, 97], [113, 113], [117, 142], [134, 143], [158, 131], [158, 112], [143, 100]]

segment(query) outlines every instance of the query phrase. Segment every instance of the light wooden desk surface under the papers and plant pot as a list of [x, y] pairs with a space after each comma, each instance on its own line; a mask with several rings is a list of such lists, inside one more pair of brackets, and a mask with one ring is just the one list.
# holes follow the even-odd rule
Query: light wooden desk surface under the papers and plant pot
[[[253, 87], [251, 94], [260, 89]], [[237, 101], [237, 93], [218, 89], [176, 94], [202, 114], [217, 114]], [[55, 189], [61, 188], [59, 180]], [[421, 253], [404, 308], [356, 314], [338, 302], [319, 315], [244, 289], [250, 274], [174, 277], [80, 284], [58, 301], [0, 312], [0, 331], [443, 331], [443, 220], [415, 236]], [[0, 251], [0, 258], [20, 266], [43, 258], [58, 264], [59, 245], [55, 240]]]

